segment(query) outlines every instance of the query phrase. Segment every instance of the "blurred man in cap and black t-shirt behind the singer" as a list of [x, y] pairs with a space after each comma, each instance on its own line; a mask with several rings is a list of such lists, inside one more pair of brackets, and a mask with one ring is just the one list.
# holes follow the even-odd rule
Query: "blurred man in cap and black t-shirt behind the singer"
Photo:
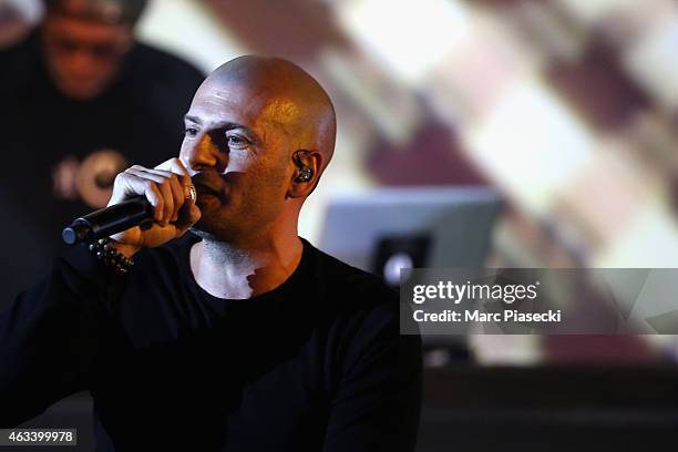
[[[167, 160], [182, 142], [181, 116], [204, 76], [135, 40], [145, 4], [44, 0], [35, 30], [0, 51], [7, 297], [44, 273], [63, 225], [105, 206], [115, 174]], [[35, 256], [22, 253], [27, 243]]]

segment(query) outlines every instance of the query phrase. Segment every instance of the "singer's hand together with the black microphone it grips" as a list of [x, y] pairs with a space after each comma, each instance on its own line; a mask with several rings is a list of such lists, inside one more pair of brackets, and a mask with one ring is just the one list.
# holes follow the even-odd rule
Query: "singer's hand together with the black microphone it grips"
[[172, 158], [155, 168], [135, 165], [120, 173], [109, 207], [76, 219], [63, 238], [73, 244], [110, 235], [121, 253], [132, 256], [181, 237], [199, 218], [191, 175]]

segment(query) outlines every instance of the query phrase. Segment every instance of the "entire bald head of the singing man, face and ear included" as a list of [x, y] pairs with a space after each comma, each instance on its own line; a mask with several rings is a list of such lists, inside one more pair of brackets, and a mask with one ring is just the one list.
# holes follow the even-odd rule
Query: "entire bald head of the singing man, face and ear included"
[[198, 189], [196, 229], [232, 242], [296, 239], [335, 147], [335, 109], [320, 84], [289, 61], [240, 56], [205, 80], [184, 120], [179, 157]]

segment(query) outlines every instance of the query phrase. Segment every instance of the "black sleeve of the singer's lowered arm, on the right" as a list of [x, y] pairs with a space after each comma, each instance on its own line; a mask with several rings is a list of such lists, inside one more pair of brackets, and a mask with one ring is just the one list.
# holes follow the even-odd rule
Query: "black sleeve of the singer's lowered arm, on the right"
[[412, 452], [422, 391], [420, 336], [399, 331], [398, 299], [351, 333], [330, 405], [326, 452]]

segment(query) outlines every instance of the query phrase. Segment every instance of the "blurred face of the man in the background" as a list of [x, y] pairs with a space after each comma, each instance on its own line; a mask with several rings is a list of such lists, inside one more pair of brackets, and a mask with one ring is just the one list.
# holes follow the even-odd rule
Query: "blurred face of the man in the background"
[[125, 25], [64, 16], [45, 20], [43, 43], [54, 84], [63, 94], [88, 100], [103, 93], [115, 80], [123, 55], [133, 42]]

